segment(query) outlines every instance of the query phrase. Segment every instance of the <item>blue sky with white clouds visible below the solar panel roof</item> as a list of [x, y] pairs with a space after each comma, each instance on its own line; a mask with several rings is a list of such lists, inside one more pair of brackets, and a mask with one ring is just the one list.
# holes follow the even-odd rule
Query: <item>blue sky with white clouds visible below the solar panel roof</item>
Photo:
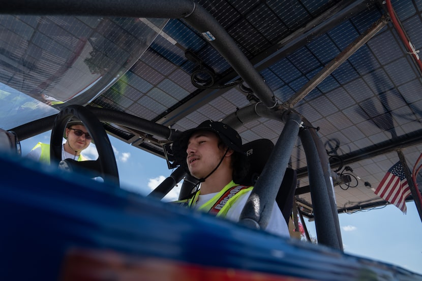
[[[38, 142], [49, 143], [50, 132], [21, 141], [22, 156]], [[147, 195], [171, 174], [164, 159], [109, 136], [120, 178], [120, 187]], [[82, 154], [90, 160], [98, 157], [91, 144]], [[163, 200], [176, 200], [175, 187]], [[414, 202], [407, 202], [407, 213], [393, 205], [353, 214], [339, 214], [343, 247], [346, 254], [394, 264], [422, 274], [422, 222]], [[305, 218], [312, 237], [315, 224]]]

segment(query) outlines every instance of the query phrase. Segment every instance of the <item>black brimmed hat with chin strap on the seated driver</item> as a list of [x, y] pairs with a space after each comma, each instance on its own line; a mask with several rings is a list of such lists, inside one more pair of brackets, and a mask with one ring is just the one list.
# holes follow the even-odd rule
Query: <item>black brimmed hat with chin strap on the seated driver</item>
[[239, 134], [223, 122], [206, 120], [199, 124], [198, 127], [189, 129], [180, 135], [179, 139], [172, 144], [173, 156], [178, 164], [186, 165], [187, 148], [189, 138], [197, 131], [211, 131], [216, 133], [221, 141], [229, 148], [236, 152], [245, 154], [242, 149], [242, 138]]

